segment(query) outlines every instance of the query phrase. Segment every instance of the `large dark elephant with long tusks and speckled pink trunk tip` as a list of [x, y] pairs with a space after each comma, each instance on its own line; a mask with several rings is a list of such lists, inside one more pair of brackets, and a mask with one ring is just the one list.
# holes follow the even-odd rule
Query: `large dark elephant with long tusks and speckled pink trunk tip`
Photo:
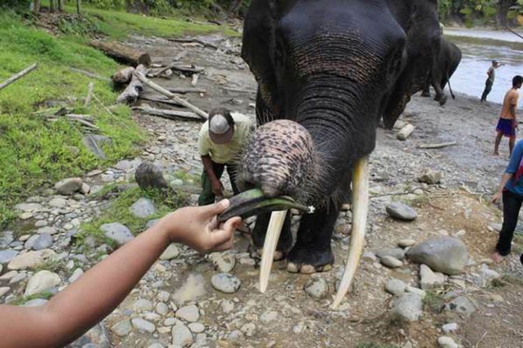
[[394, 125], [434, 64], [440, 36], [436, 0], [251, 1], [241, 56], [257, 80], [259, 127], [237, 184], [315, 208], [302, 216], [294, 245], [289, 212], [257, 216], [252, 243], [262, 252], [261, 273], [273, 258], [287, 258], [290, 272], [331, 269], [333, 228], [352, 199], [340, 303], [363, 248], [377, 125]]

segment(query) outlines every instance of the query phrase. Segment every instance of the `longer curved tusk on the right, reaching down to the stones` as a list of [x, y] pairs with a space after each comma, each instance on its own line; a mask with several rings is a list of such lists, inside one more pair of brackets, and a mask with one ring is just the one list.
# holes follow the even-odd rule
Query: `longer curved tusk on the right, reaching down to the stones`
[[349, 291], [356, 268], [360, 261], [361, 251], [363, 251], [363, 241], [365, 240], [365, 228], [367, 227], [367, 212], [369, 209], [369, 158], [367, 156], [358, 159], [352, 175], [352, 226], [351, 226], [351, 246], [347, 256], [347, 264], [343, 273], [343, 278], [338, 287], [332, 308], [340, 305], [343, 297]]

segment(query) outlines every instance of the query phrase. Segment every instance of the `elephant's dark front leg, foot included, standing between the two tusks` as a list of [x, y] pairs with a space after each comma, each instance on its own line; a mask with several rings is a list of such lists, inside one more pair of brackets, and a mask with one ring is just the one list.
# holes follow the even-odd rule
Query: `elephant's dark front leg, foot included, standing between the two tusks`
[[296, 244], [287, 255], [287, 271], [311, 274], [332, 268], [331, 236], [339, 214], [338, 205], [331, 201], [302, 216]]

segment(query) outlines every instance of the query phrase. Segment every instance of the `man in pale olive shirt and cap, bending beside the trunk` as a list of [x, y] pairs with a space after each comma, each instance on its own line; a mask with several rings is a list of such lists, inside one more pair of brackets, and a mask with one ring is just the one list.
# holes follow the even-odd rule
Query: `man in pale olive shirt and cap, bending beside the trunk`
[[232, 115], [227, 109], [213, 109], [199, 131], [199, 155], [202, 156], [204, 171], [202, 173], [202, 194], [198, 205], [214, 203], [216, 196], [223, 196], [223, 185], [220, 181], [227, 168], [234, 194], [236, 187], [236, 164], [241, 159], [243, 148], [254, 129], [254, 122], [239, 113]]

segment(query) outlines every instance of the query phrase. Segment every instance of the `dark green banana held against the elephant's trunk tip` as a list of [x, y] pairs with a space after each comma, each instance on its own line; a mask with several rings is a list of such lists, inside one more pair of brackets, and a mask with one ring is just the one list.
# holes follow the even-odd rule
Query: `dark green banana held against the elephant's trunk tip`
[[241, 216], [242, 219], [248, 216], [258, 215], [274, 210], [298, 209], [303, 212], [312, 212], [312, 207], [307, 207], [297, 203], [294, 199], [287, 196], [266, 198], [260, 189], [251, 189], [229, 198], [231, 205], [218, 215], [218, 222], [225, 222], [234, 216]]

